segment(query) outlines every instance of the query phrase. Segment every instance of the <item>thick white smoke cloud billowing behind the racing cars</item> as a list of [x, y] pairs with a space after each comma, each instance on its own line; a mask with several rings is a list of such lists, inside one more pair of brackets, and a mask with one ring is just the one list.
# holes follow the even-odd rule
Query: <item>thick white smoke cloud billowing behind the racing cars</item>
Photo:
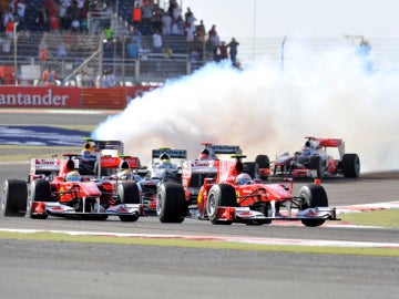
[[366, 72], [350, 49], [286, 60], [284, 72], [270, 65], [209, 63], [132, 101], [92, 135], [123, 141], [125, 154], [146, 164], [161, 146], [194, 158], [212, 142], [273, 159], [300, 150], [305, 136], [337, 137], [360, 156], [362, 172], [399, 169], [398, 74]]

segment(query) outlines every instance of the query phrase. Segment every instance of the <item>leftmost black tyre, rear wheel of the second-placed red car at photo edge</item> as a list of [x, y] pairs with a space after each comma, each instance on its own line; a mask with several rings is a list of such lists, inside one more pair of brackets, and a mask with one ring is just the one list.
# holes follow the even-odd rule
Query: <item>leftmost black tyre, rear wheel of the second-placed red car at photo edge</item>
[[22, 179], [4, 182], [1, 207], [4, 216], [23, 217], [27, 214], [28, 187]]

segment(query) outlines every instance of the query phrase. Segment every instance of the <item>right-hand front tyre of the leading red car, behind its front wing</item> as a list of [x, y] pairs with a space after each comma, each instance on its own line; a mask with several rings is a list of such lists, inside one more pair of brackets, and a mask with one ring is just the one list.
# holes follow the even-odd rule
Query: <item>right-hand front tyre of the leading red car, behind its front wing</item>
[[[301, 198], [300, 209], [314, 208], [314, 207], [327, 207], [328, 197], [325, 188], [320, 185], [311, 184], [303, 186], [299, 190]], [[309, 227], [320, 226], [325, 223], [325, 219], [303, 219], [301, 223]]]

